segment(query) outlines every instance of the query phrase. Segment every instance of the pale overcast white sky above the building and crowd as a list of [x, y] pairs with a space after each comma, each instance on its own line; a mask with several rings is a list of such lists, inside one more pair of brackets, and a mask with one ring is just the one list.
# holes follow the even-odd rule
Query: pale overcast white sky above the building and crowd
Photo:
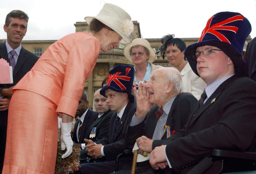
[[[222, 11], [239, 12], [252, 25], [256, 37], [256, 0], [104, 0], [120, 6], [133, 21], [140, 23], [142, 37], [200, 37], [207, 20]], [[2, 0], [0, 39], [6, 39], [3, 26], [6, 15], [22, 10], [29, 16], [23, 40], [56, 40], [75, 32], [74, 23], [85, 16], [96, 16], [103, 6], [100, 0]]]

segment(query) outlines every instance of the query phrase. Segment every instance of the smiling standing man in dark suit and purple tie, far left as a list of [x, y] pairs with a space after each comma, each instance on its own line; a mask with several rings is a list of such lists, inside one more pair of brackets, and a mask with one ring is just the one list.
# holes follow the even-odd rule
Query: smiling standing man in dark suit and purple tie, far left
[[[0, 58], [10, 63], [13, 60], [13, 84], [0, 84], [0, 173], [4, 162], [6, 144], [6, 129], [8, 119], [8, 106], [12, 97], [12, 87], [34, 66], [38, 57], [24, 49], [21, 41], [27, 32], [28, 16], [20, 11], [13, 10], [6, 16], [4, 31], [7, 33], [7, 41], [0, 44]], [[12, 51], [14, 50], [14, 51]], [[11, 56], [10, 52], [14, 53]], [[13, 59], [14, 58], [14, 59]]]

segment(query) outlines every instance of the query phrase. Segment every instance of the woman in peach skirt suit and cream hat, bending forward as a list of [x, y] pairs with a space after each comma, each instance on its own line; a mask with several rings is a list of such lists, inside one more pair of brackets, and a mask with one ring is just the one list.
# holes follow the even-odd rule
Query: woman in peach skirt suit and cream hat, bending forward
[[57, 154], [58, 114], [66, 158], [72, 152], [72, 118], [100, 50], [130, 43], [129, 14], [104, 4], [86, 17], [91, 32], [73, 33], [53, 43], [13, 88], [9, 106], [4, 174], [53, 174]]

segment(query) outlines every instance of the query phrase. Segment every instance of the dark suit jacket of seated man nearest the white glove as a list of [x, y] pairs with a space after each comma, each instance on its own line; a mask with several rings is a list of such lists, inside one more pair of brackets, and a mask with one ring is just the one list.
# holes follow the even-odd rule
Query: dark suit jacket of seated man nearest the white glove
[[77, 136], [76, 136], [76, 130], [79, 125], [79, 120], [76, 121], [76, 123], [74, 125], [74, 134], [72, 137], [72, 140], [75, 143], [79, 143], [79, 144], [85, 143], [84, 139], [87, 138], [86, 131], [89, 129], [90, 125], [92, 125], [93, 121], [95, 121], [97, 119], [97, 117], [98, 117], [98, 112], [88, 109], [87, 113], [84, 116], [84, 121], [82, 123], [82, 129], [81, 129], [79, 141], [77, 141]]

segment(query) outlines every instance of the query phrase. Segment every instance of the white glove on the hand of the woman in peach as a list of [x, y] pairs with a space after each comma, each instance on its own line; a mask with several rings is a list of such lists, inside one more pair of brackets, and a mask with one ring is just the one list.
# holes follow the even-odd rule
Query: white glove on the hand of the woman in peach
[[60, 123], [61, 125], [61, 150], [64, 151], [67, 148], [66, 153], [64, 153], [61, 157], [66, 158], [72, 153], [73, 150], [73, 141], [71, 139], [71, 123]]

